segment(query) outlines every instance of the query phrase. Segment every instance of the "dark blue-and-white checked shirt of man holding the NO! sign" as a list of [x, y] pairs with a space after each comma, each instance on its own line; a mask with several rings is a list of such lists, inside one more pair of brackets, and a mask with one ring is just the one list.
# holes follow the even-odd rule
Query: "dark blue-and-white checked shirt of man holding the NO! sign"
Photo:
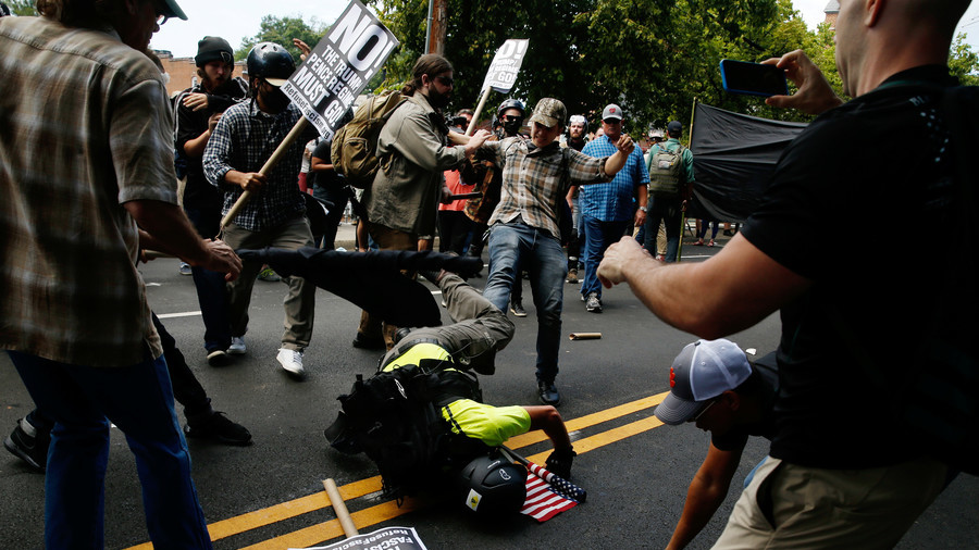
[[[302, 114], [294, 105], [276, 115], [259, 110], [256, 101], [232, 105], [221, 115], [218, 127], [208, 141], [203, 154], [203, 170], [208, 182], [224, 191], [222, 215], [227, 214], [244, 189], [224, 182], [232, 170], [259, 172], [265, 161], [282, 143]], [[306, 202], [299, 191], [299, 168], [306, 143], [317, 137], [315, 128], [307, 130], [293, 141], [282, 159], [272, 168], [268, 182], [233, 220], [250, 232], [277, 227], [306, 212]]]

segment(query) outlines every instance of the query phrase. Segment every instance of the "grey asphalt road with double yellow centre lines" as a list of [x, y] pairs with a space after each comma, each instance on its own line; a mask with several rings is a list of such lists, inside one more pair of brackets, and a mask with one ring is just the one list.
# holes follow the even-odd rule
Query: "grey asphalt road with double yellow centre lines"
[[[699, 261], [717, 250], [685, 247], [685, 260]], [[695, 338], [658, 321], [628, 288], [607, 290], [605, 312], [591, 314], [579, 301], [578, 287], [567, 285], [565, 335], [603, 335], [598, 340], [563, 340], [557, 380], [565, 399], [559, 410], [580, 453], [574, 482], [587, 489], [587, 502], [543, 524], [523, 516], [481, 522], [461, 505], [439, 501], [409, 499], [398, 508], [377, 493], [380, 482], [370, 461], [336, 453], [323, 437], [323, 428], [338, 410], [335, 398], [349, 390], [356, 374], [368, 375], [376, 366], [379, 353], [350, 346], [358, 309], [318, 292], [315, 330], [305, 360], [309, 376], [296, 382], [275, 362], [285, 286], [258, 282], [248, 353], [230, 366], [213, 368], [205, 361], [203, 325], [195, 313], [199, 307], [190, 277], [178, 275], [175, 260], [157, 260], [140, 270], [153, 310], [176, 337], [214, 408], [255, 436], [255, 443], [247, 448], [189, 441], [195, 482], [218, 549], [303, 548], [342, 539], [323, 492], [325, 478], [340, 487], [361, 533], [413, 526], [432, 549], [662, 548], [706, 452], [706, 434], [693, 426], [660, 426], [652, 415], [653, 404], [669, 389], [672, 358]], [[472, 279], [478, 287], [484, 282]], [[492, 404], [535, 403], [536, 321], [529, 288], [525, 293], [529, 316], [515, 320], [517, 335], [498, 354], [496, 374], [481, 378]], [[778, 329], [773, 315], [731, 339], [760, 357], [774, 349]], [[9, 359], [0, 354], [3, 434], [32, 408]], [[540, 439], [522, 436], [510, 445], [524, 455], [541, 453], [543, 461], [548, 446]], [[735, 484], [766, 451], [765, 441], [749, 442]], [[690, 548], [710, 547], [738, 492], [732, 488], [723, 508]], [[42, 548], [44, 477], [0, 452], [0, 549]], [[107, 548], [147, 542], [135, 463], [124, 437], [114, 429], [106, 515]], [[979, 480], [959, 476], [899, 548], [976, 548], [977, 520]]]

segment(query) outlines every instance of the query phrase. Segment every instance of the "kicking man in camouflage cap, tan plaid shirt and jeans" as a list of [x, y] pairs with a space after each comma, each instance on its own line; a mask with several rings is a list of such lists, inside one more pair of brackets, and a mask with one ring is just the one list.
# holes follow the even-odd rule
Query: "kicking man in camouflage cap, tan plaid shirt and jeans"
[[565, 104], [544, 98], [530, 118], [531, 138], [520, 136], [484, 143], [476, 152], [503, 167], [500, 201], [490, 218], [490, 277], [483, 296], [507, 311], [517, 270], [530, 273], [537, 309], [537, 395], [544, 404], [560, 403], [558, 373], [561, 305], [567, 262], [561, 249], [558, 201], [572, 185], [608, 182], [625, 165], [634, 145], [622, 136], [618, 150], [594, 158], [561, 149]]

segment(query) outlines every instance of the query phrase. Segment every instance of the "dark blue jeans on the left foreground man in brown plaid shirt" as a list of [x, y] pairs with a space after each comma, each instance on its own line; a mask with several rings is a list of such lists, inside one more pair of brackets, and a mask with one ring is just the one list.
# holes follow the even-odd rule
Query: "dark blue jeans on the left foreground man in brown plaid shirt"
[[154, 547], [211, 548], [163, 358], [97, 368], [9, 354], [35, 404], [54, 420], [45, 476], [46, 548], [104, 548], [110, 422], [136, 457]]

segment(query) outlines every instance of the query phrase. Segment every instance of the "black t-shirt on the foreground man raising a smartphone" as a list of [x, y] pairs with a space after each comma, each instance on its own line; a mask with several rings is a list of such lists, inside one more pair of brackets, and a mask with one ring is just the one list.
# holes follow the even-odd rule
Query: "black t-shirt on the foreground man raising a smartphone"
[[814, 283], [781, 310], [776, 458], [863, 468], [927, 453], [889, 405], [934, 318], [933, 289], [955, 268], [937, 246], [968, 234], [950, 226], [954, 159], [933, 88], [953, 84], [945, 67], [916, 67], [819, 116], [786, 148], [742, 229]]

